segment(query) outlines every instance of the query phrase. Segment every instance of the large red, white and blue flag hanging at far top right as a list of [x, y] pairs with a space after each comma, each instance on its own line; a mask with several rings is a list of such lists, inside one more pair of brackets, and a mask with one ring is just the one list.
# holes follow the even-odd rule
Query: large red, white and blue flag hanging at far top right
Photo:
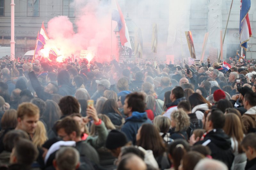
[[251, 0], [241, 0], [240, 6], [240, 46], [247, 51], [247, 41], [252, 36], [252, 30], [248, 12], [251, 8]]

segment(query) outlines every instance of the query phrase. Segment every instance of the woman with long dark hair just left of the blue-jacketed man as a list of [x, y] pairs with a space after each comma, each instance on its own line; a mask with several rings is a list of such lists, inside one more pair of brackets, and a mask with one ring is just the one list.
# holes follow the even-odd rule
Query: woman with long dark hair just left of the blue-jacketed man
[[116, 126], [120, 127], [124, 123], [123, 117], [119, 112], [117, 103], [114, 99], [108, 99], [104, 103], [100, 113], [107, 115], [111, 122]]

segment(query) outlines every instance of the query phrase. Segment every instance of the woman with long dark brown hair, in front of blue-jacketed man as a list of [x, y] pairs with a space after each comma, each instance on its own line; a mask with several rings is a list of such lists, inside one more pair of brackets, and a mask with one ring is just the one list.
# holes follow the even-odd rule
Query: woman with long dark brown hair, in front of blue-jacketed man
[[166, 154], [166, 145], [154, 125], [143, 124], [140, 126], [136, 135], [136, 144], [145, 150], [153, 151], [153, 155], [160, 169], [170, 167]]

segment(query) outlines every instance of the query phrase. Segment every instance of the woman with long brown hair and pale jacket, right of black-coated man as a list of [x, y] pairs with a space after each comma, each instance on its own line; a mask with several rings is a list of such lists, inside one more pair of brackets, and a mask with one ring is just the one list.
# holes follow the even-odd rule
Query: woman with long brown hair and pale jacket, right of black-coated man
[[244, 132], [239, 117], [234, 113], [226, 114], [223, 130], [230, 137], [231, 147], [235, 155], [231, 169], [244, 169], [246, 165], [246, 155], [243, 153], [240, 145], [244, 138]]

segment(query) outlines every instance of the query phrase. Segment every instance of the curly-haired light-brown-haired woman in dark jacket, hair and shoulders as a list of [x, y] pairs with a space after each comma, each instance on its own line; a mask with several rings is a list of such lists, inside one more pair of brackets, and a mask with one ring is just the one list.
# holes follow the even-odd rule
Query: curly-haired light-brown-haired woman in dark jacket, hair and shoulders
[[188, 141], [188, 135], [186, 130], [190, 125], [190, 119], [188, 114], [183, 110], [179, 109], [172, 112], [171, 115], [171, 138], [175, 139], [185, 139]]

